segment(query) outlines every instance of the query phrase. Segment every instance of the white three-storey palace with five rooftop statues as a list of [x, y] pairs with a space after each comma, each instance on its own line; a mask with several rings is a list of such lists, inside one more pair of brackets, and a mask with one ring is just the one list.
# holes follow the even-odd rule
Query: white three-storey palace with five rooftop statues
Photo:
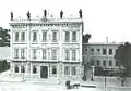
[[11, 12], [11, 73], [25, 78], [82, 78], [82, 11], [79, 18], [14, 20]]

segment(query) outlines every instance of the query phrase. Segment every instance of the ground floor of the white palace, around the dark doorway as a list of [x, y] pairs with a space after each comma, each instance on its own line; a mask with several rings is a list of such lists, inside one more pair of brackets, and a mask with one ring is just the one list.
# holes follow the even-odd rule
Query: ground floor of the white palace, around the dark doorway
[[82, 78], [83, 67], [80, 62], [41, 62], [12, 61], [12, 76], [24, 78]]

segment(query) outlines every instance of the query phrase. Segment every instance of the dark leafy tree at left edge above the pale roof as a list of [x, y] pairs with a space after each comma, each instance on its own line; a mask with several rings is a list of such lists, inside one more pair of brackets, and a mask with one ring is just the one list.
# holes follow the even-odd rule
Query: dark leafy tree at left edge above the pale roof
[[9, 29], [3, 29], [0, 27], [0, 47], [10, 47], [10, 35]]

